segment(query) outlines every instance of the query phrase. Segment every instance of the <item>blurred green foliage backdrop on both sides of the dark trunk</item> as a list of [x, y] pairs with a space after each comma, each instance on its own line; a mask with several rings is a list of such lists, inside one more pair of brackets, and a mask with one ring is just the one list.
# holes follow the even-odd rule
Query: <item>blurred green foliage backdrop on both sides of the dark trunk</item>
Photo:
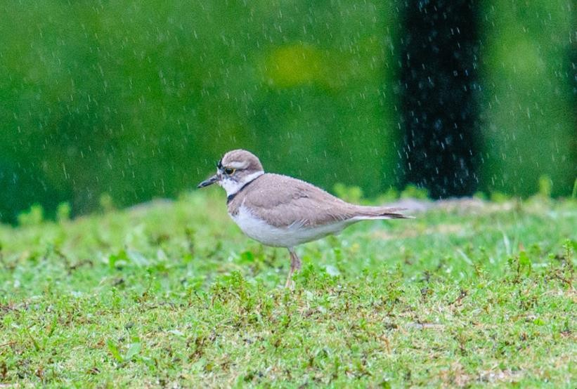
[[[478, 6], [479, 190], [571, 194], [570, 1]], [[173, 197], [233, 148], [368, 196], [403, 187], [395, 1], [6, 1], [0, 220]]]

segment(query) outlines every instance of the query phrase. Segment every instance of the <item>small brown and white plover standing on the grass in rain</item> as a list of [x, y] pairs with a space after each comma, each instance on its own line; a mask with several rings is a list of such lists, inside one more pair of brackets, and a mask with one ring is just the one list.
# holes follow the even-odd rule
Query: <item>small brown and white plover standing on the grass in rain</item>
[[216, 174], [198, 187], [214, 183], [226, 190], [228, 214], [245, 235], [288, 249], [287, 287], [294, 270], [301, 268], [295, 246], [337, 234], [361, 220], [410, 218], [398, 213], [403, 209], [350, 204], [297, 178], [265, 173], [259, 159], [246, 150], [224, 154]]

